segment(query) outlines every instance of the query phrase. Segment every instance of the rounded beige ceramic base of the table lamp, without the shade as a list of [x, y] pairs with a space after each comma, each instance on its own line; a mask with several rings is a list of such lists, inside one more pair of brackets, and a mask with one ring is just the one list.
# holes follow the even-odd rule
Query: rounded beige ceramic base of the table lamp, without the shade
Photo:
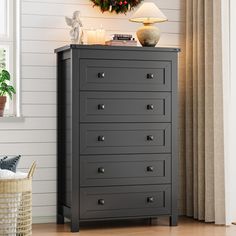
[[151, 23], [144, 23], [137, 31], [137, 37], [143, 47], [155, 47], [161, 36], [159, 28]]

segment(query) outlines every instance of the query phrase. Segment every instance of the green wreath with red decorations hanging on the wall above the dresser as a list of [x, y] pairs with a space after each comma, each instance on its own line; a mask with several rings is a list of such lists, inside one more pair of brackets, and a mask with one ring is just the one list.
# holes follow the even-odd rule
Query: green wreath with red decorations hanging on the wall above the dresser
[[94, 6], [99, 6], [101, 11], [115, 11], [118, 13], [126, 13], [140, 4], [143, 0], [90, 0]]

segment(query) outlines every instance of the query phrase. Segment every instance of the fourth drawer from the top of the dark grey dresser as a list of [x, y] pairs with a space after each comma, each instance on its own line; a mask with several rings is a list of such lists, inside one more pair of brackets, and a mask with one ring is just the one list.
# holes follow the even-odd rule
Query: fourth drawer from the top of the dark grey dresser
[[80, 186], [83, 187], [170, 182], [169, 154], [80, 157]]

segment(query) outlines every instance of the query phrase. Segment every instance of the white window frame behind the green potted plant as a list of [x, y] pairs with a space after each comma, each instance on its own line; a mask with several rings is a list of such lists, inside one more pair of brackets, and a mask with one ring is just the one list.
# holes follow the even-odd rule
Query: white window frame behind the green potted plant
[[7, 70], [11, 74], [11, 84], [16, 89], [12, 100], [8, 99], [5, 116], [20, 116], [20, 0], [7, 0], [7, 32], [0, 35], [0, 46], [7, 48]]

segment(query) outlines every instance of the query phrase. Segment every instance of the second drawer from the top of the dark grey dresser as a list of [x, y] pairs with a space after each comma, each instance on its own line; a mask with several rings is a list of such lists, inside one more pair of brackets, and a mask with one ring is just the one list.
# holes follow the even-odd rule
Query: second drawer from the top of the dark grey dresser
[[81, 122], [170, 122], [171, 93], [81, 92]]

